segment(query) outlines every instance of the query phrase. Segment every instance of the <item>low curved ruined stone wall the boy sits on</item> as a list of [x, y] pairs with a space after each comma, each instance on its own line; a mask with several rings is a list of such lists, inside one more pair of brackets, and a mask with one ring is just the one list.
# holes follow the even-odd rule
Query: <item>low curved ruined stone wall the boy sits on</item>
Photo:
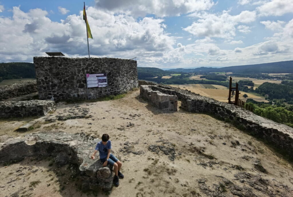
[[113, 184], [113, 166], [103, 167], [98, 154], [90, 159], [99, 139], [84, 133], [33, 133], [0, 143], [0, 164], [21, 161], [28, 156], [53, 156], [57, 165], [79, 166], [79, 180], [83, 190], [109, 191]]

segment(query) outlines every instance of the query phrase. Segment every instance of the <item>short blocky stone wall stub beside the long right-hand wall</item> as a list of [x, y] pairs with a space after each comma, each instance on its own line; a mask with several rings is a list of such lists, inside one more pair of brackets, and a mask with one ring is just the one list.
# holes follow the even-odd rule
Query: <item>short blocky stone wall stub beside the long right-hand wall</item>
[[176, 95], [161, 93], [158, 90], [152, 90], [154, 86], [140, 86], [140, 95], [151, 101], [159, 109], [177, 111], [178, 98]]

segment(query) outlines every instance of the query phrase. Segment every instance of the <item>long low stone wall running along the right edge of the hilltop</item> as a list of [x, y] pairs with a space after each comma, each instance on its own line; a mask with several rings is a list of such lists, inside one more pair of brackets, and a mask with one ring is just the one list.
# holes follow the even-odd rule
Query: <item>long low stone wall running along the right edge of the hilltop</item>
[[188, 90], [159, 85], [149, 88], [161, 93], [176, 95], [181, 100], [181, 107], [189, 112], [210, 113], [234, 121], [257, 137], [271, 142], [293, 158], [293, 128], [287, 125], [257, 116], [241, 107], [191, 93]]

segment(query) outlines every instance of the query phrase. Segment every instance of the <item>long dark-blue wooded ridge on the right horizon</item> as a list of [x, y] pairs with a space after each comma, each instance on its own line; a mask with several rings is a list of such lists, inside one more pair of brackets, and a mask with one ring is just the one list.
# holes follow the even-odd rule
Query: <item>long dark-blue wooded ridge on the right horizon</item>
[[265, 64], [252, 64], [243, 66], [229, 66], [223, 68], [200, 67], [195, 69], [170, 69], [176, 72], [233, 72], [233, 73], [293, 73], [293, 60], [272, 62]]

